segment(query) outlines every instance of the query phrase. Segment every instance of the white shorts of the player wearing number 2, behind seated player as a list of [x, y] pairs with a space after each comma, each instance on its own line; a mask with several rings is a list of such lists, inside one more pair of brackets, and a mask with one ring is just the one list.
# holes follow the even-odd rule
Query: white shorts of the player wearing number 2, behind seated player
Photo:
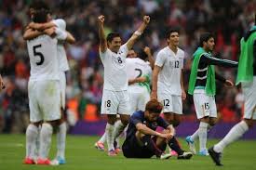
[[147, 102], [150, 100], [150, 94], [146, 87], [128, 87], [130, 113], [135, 111], [145, 111]]

